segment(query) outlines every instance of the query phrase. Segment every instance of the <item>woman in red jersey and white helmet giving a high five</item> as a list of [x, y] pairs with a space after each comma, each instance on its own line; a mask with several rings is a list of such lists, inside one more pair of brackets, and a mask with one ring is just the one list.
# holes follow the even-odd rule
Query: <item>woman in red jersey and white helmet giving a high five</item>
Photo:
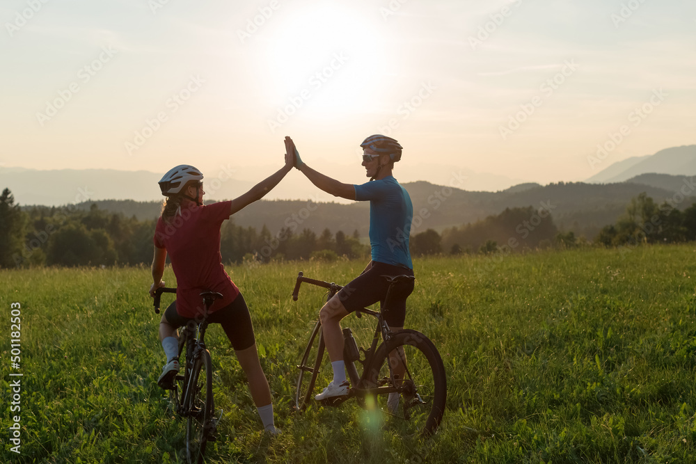
[[[172, 168], [159, 181], [166, 202], [155, 228], [155, 257], [152, 259], [152, 287], [164, 287], [162, 275], [167, 255], [177, 278], [176, 301], [162, 315], [159, 339], [166, 355], [166, 365], [157, 384], [168, 388], [179, 371], [177, 328], [207, 316], [220, 323], [230, 339], [239, 365], [249, 383], [251, 397], [258, 408], [264, 429], [279, 433], [274, 425], [273, 403], [268, 381], [260, 365], [251, 317], [244, 296], [222, 265], [220, 227], [226, 219], [246, 205], [263, 198], [292, 169], [292, 155], [285, 154], [285, 166], [244, 195], [226, 202], [203, 205], [203, 174], [193, 166]], [[204, 314], [202, 291], [223, 295]]]

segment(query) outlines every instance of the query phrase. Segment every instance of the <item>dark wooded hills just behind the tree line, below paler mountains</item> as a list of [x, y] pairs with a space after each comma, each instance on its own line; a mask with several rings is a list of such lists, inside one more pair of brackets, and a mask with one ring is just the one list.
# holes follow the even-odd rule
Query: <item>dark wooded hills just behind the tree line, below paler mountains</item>
[[[683, 182], [683, 179], [681, 180]], [[674, 198], [672, 186], [665, 185], [665, 188], [662, 188], [634, 182], [560, 182], [499, 192], [470, 192], [429, 182], [409, 182], [403, 185], [413, 201], [411, 234], [425, 232], [427, 229], [441, 232], [447, 227], [461, 226], [500, 214], [508, 207], [531, 205], [550, 211], [554, 223], [560, 230], [573, 231], [577, 236], [593, 239], [604, 225], [615, 223], [626, 211], [626, 205], [631, 198], [640, 193], [647, 193], [658, 204]], [[695, 201], [696, 191], [681, 200], [677, 207], [685, 209]], [[139, 219], [157, 218], [161, 211], [161, 201], [105, 200], [95, 203], [100, 209], [120, 212], [126, 216], [135, 215]], [[84, 202], [77, 207], [88, 209], [90, 205], [91, 202]], [[265, 225], [271, 234], [276, 234], [282, 227], [290, 227], [296, 233], [308, 228], [318, 235], [328, 228], [331, 232], [342, 230], [347, 234], [357, 230], [361, 237], [367, 237], [369, 216], [367, 202], [340, 204], [311, 200], [261, 200], [232, 216], [232, 221], [243, 227], [255, 227], [257, 230], [261, 230]]]

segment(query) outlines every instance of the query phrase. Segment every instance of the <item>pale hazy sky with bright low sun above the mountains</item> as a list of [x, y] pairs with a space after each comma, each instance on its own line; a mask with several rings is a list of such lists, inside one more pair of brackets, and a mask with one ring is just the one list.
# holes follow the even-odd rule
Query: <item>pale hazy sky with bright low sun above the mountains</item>
[[6, 0], [0, 22], [0, 170], [255, 181], [290, 135], [360, 183], [381, 133], [400, 181], [495, 190], [696, 143], [693, 1]]

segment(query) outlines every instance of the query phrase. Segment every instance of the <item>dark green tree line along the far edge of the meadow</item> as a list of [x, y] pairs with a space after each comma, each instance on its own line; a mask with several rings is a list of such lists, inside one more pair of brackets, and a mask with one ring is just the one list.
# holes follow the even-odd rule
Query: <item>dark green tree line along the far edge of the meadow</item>
[[[461, 253], [512, 253], [539, 248], [576, 246], [638, 246], [641, 243], [679, 243], [696, 239], [696, 204], [677, 209], [665, 201], [658, 205], [646, 193], [631, 199], [615, 223], [605, 225], [596, 237], [560, 230], [553, 221], [553, 205], [507, 207], [500, 214], [441, 232], [413, 227], [411, 253], [458, 255]], [[292, 216], [290, 216], [292, 217]], [[138, 219], [75, 205], [35, 206], [22, 209], [12, 193], [0, 195], [0, 266], [133, 266], [150, 264], [156, 219]], [[221, 227], [223, 262], [263, 263], [271, 260], [367, 259], [367, 237], [358, 230], [335, 232], [328, 227], [317, 234], [300, 221], [286, 221], [276, 232], [263, 225], [242, 227], [234, 218]], [[425, 224], [427, 225], [427, 224]], [[419, 232], [420, 230], [422, 232]]]

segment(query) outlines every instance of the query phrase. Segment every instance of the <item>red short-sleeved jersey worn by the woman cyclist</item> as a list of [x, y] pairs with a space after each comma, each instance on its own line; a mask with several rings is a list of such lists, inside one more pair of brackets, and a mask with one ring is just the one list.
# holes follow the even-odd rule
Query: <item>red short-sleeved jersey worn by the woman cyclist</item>
[[181, 214], [166, 223], [161, 217], [155, 227], [157, 248], [166, 248], [177, 278], [176, 309], [183, 317], [203, 314], [200, 292], [219, 291], [209, 312], [226, 307], [237, 298], [239, 289], [225, 272], [220, 254], [220, 227], [230, 218], [230, 203], [197, 206], [182, 203]]

